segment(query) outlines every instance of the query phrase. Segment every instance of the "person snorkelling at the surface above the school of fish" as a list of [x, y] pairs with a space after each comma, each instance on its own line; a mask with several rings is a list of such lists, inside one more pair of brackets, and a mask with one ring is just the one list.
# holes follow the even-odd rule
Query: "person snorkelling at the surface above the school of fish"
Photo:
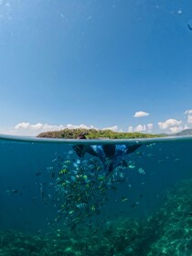
[[[78, 139], [87, 139], [87, 133], [81, 133]], [[76, 154], [83, 158], [86, 153], [100, 158], [104, 169], [107, 173], [111, 173], [117, 166], [128, 167], [124, 160], [125, 155], [133, 153], [142, 144], [77, 144], [73, 146]]]

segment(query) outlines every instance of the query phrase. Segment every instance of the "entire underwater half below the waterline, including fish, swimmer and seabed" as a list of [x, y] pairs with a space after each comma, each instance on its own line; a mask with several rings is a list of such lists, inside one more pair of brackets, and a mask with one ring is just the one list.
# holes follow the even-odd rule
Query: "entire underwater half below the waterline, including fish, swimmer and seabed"
[[191, 149], [1, 136], [0, 256], [192, 255]]

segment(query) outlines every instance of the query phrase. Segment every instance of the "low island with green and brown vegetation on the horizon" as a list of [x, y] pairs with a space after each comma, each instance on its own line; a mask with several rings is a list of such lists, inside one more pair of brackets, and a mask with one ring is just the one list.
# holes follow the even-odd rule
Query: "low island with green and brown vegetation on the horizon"
[[96, 130], [96, 129], [64, 129], [61, 131], [39, 133], [37, 137], [41, 138], [60, 138], [60, 139], [77, 139], [80, 133], [87, 133], [88, 139], [135, 139], [135, 138], [155, 138], [165, 137], [165, 134], [149, 134], [149, 133], [120, 133], [112, 132], [112, 130]]

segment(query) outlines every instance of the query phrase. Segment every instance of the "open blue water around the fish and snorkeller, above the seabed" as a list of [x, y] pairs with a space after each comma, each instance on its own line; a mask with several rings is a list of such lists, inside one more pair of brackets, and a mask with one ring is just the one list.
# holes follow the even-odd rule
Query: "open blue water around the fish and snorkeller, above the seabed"
[[[144, 219], [161, 207], [167, 189], [183, 179], [192, 177], [191, 137], [80, 142], [64, 140], [58, 142], [50, 139], [27, 141], [2, 137], [0, 140], [1, 230], [15, 229], [26, 233], [44, 233], [63, 225], [64, 215], [56, 221], [58, 205], [61, 202], [55, 202], [58, 197], [55, 191], [56, 181], [55, 177], [50, 176], [48, 168], [60, 162], [64, 163], [68, 159], [72, 163], [79, 161], [80, 158], [72, 147], [77, 143], [143, 144], [133, 154], [125, 156], [128, 165], [135, 166], [123, 169], [125, 181], [114, 183], [115, 189], [107, 189], [108, 201], [101, 206], [99, 214], [93, 214], [92, 221], [101, 222], [103, 219], [110, 221], [117, 218]], [[90, 164], [89, 161], [93, 158], [99, 161], [96, 156], [88, 154], [81, 161], [86, 165], [86, 163]], [[139, 168], [143, 168], [144, 173], [140, 173]], [[56, 168], [55, 172], [59, 173], [60, 169]], [[85, 170], [87, 171], [89, 168]], [[69, 210], [72, 204], [73, 202], [70, 202]], [[82, 221], [89, 221], [89, 217], [83, 217]]]

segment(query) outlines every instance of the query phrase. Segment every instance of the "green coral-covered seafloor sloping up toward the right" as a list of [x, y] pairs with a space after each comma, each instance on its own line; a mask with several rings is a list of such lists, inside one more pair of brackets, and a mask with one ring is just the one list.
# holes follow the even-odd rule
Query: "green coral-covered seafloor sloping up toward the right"
[[46, 235], [0, 232], [1, 256], [191, 256], [192, 180], [167, 191], [162, 208], [145, 220], [116, 219], [102, 228], [57, 229]]

